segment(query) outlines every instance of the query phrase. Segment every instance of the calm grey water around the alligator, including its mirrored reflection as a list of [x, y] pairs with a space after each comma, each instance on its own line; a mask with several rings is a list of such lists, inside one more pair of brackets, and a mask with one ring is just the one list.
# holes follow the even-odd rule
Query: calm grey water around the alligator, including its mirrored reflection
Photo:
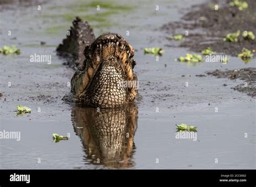
[[[240, 80], [196, 76], [217, 68], [255, 67], [255, 59], [249, 64], [235, 57], [228, 57], [226, 65], [180, 64], [174, 59], [190, 51], [165, 47], [171, 41], [158, 30], [179, 20], [180, 9], [200, 2], [113, 2], [97, 11], [90, 2], [52, 1], [40, 11], [37, 6], [2, 11], [1, 46], [14, 44], [22, 53], [0, 56], [0, 129], [20, 132], [21, 140], [0, 139], [0, 168], [255, 169], [255, 100], [231, 89]], [[142, 99], [128, 109], [98, 113], [62, 102], [73, 70], [62, 65], [55, 49], [74, 16], [89, 20], [96, 36], [117, 32], [136, 49]], [[165, 50], [159, 61], [144, 56], [144, 47], [158, 46]], [[31, 63], [35, 53], [51, 55], [51, 64]], [[32, 113], [17, 116], [17, 105], [30, 107]], [[176, 123], [197, 126], [197, 136], [176, 138]], [[53, 143], [52, 133], [70, 138]]]

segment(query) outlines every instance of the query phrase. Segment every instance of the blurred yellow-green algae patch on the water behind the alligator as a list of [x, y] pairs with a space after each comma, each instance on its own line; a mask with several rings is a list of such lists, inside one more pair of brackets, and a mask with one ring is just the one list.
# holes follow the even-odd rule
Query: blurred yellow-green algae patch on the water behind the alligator
[[[50, 9], [56, 10], [55, 6], [50, 7]], [[49, 12], [47, 12], [40, 15], [40, 17], [46, 18], [47, 20], [55, 19], [56, 22], [58, 22], [59, 19], [71, 22], [76, 16], [79, 15], [80, 18], [89, 22], [93, 28], [106, 29], [109, 31], [110, 27], [120, 25], [119, 22], [113, 21], [112, 17], [116, 17], [116, 15], [119, 14], [131, 13], [135, 9], [135, 6], [128, 4], [124, 5], [114, 1], [79, 1], [72, 2], [68, 11], [65, 9], [58, 12], [54, 11], [54, 14], [49, 14]], [[60, 26], [62, 27], [62, 25]], [[47, 28], [46, 32], [49, 34], [58, 34], [59, 32], [67, 29], [58, 28], [60, 26], [56, 25], [56, 27]], [[100, 31], [100, 33], [103, 32], [104, 31]]]

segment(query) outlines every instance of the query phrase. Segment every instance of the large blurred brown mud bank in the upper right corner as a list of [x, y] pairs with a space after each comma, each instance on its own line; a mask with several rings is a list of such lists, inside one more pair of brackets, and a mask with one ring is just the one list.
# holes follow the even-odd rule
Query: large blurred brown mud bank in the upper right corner
[[[204, 4], [192, 6], [179, 22], [167, 23], [160, 27], [169, 35], [184, 34], [188, 36], [182, 40], [179, 47], [189, 47], [190, 50], [200, 52], [211, 46], [215, 51], [231, 56], [237, 56], [242, 47], [255, 50], [255, 39], [244, 40], [241, 34], [238, 42], [223, 41], [228, 33], [237, 30], [253, 31], [256, 33], [256, 1], [247, 0], [248, 8], [240, 11], [236, 6], [230, 6], [231, 1], [210, 1]], [[214, 5], [218, 5], [215, 10]], [[173, 41], [167, 46], [175, 46]], [[177, 45], [176, 45], [177, 46]]]

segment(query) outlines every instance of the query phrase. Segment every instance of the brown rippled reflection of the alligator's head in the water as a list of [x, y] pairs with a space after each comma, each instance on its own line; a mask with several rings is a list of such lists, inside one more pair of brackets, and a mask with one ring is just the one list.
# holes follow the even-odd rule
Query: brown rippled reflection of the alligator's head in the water
[[110, 168], [133, 167], [137, 120], [136, 103], [120, 108], [76, 106], [72, 109], [72, 123], [83, 142], [86, 158]]

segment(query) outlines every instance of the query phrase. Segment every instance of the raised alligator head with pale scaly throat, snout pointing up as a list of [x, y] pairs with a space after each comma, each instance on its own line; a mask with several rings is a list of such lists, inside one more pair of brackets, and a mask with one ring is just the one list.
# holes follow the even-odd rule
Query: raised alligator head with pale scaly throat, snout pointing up
[[109, 108], [133, 101], [137, 95], [133, 47], [117, 33], [104, 33], [84, 50], [84, 63], [71, 79], [77, 103]]

